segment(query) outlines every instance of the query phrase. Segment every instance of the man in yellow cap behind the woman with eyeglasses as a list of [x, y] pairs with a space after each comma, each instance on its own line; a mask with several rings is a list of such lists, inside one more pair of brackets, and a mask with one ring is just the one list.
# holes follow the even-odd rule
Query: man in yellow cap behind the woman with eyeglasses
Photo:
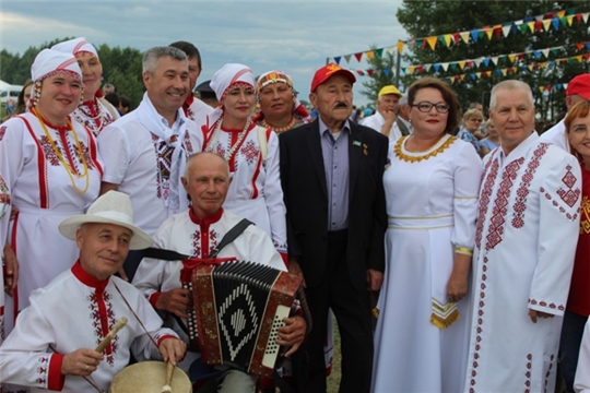
[[385, 86], [378, 94], [377, 111], [363, 120], [363, 126], [370, 127], [375, 131], [389, 136], [390, 144], [402, 135], [396, 122], [401, 97], [402, 94], [398, 87], [393, 85]]

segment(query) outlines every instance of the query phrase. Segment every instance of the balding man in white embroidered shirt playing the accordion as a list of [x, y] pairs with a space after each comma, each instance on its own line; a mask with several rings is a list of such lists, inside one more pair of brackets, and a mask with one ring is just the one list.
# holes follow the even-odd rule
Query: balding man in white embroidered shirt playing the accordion
[[[154, 240], [157, 248], [192, 258], [182, 262], [144, 259], [139, 265], [133, 285], [150, 299], [156, 310], [169, 317], [165, 319], [166, 323], [170, 323], [178, 335], [190, 342], [184, 329], [189, 326], [189, 310], [194, 307], [190, 290], [182, 288], [184, 277], [190, 277], [194, 267], [189, 263], [211, 264], [237, 260], [257, 262], [281, 271], [286, 269], [270, 237], [253, 225], [222, 248], [215, 259], [208, 259], [213, 248], [241, 221], [241, 217], [222, 207], [229, 188], [229, 168], [223, 157], [206, 152], [190, 156], [182, 184], [190, 195], [192, 206], [166, 219], [154, 235]], [[276, 344], [292, 346], [285, 354], [290, 356], [303, 343], [307, 323], [302, 315], [283, 321], [286, 325], [279, 329]], [[179, 366], [188, 370], [199, 356], [197, 352], [189, 352]], [[222, 381], [212, 382], [220, 383], [219, 392], [253, 392], [257, 378], [231, 370]]]

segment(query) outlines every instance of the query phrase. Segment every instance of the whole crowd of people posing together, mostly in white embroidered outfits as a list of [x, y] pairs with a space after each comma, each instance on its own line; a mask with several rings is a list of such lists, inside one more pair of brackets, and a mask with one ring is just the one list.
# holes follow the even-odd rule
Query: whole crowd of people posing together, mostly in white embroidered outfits
[[[85, 38], [35, 58], [0, 124], [2, 392], [108, 391], [146, 359], [197, 392], [326, 392], [333, 320], [340, 392], [552, 392], [558, 359], [590, 391], [590, 74], [540, 136], [516, 80], [487, 120], [435, 78], [384, 86], [361, 119], [335, 63], [311, 75], [311, 115], [284, 71], [227, 63], [197, 85], [201, 69], [190, 43], [146, 50], [130, 111]], [[192, 272], [228, 261], [303, 277], [282, 379], [193, 346]]]

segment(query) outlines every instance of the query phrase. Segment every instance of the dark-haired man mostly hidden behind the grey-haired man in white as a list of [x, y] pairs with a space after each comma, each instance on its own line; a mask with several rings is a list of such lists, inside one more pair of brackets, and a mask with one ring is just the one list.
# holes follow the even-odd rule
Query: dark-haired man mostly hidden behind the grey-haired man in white
[[202, 126], [206, 122], [206, 116], [213, 111], [213, 108], [203, 103], [201, 99], [194, 98], [193, 95], [194, 86], [197, 85], [197, 79], [201, 74], [201, 71], [203, 71], [203, 67], [201, 63], [201, 53], [194, 45], [187, 41], [176, 41], [170, 44], [169, 46], [180, 49], [188, 57], [190, 93], [187, 96], [187, 100], [182, 105], [182, 109], [185, 110], [185, 115], [189, 119], [197, 122], [197, 126]]

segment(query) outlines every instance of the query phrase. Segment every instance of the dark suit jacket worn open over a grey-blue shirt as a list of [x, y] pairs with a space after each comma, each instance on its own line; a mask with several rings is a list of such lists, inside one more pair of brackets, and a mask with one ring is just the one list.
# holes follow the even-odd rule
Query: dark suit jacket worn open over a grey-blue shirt
[[[346, 263], [351, 281], [365, 289], [366, 270], [385, 269], [387, 213], [382, 176], [388, 138], [350, 122], [349, 241]], [[326, 269], [328, 195], [319, 121], [279, 138], [281, 181], [287, 207], [290, 255], [299, 257], [306, 284], [318, 285]], [[366, 152], [366, 154], [365, 154]]]

